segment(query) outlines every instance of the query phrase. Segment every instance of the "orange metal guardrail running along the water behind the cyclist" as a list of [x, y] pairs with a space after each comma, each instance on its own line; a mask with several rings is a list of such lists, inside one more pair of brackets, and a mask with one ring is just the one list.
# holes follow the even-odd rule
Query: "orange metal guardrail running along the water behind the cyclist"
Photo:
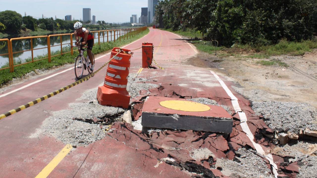
[[[130, 29], [111, 29], [111, 30], [98, 30], [98, 31], [91, 31], [91, 32], [98, 32], [98, 44], [100, 45], [100, 32], [102, 32], [102, 38], [103, 38], [103, 43], [105, 42], [105, 33], [107, 32], [107, 42], [109, 42], [109, 31], [110, 31], [110, 41], [112, 41], [112, 37], [113, 37], [113, 41], [115, 42], [115, 40], [119, 39], [119, 41], [121, 41], [121, 38], [123, 36], [123, 40], [131, 38], [131, 35], [136, 35], [144, 30], [146, 30], [147, 27], [139, 27], [139, 28], [130, 28]], [[62, 43], [62, 36], [70, 36], [70, 43]], [[0, 68], [0, 70], [4, 70], [4, 69], [9, 69], [10, 68], [10, 72], [14, 72], [14, 67], [17, 66], [21, 66], [24, 64], [28, 64], [31, 62], [35, 62], [35, 61], [39, 61], [39, 60], [43, 60], [43, 59], [48, 59], [48, 62], [51, 62], [51, 58], [57, 55], [62, 55], [62, 54], [67, 54], [67, 53], [71, 53], [73, 55], [73, 48], [70, 49], [70, 51], [68, 52], [63, 52], [63, 45], [68, 45], [70, 44], [71, 47], [73, 47], [73, 35], [74, 33], [68, 33], [68, 34], [56, 34], [56, 35], [43, 35], [43, 36], [30, 36], [30, 37], [19, 37], [19, 38], [11, 38], [9, 39], [0, 39], [0, 41], [6, 41], [7, 45], [8, 45], [8, 53], [5, 54], [0, 54], [0, 56], [3, 55], [8, 55], [9, 57], [9, 67], [4, 67], [4, 68]], [[117, 35], [117, 38], [116, 38]], [[60, 36], [60, 44], [58, 45], [50, 45], [50, 37], [52, 36]], [[34, 38], [47, 38], [47, 47], [44, 48], [33, 48], [33, 39]], [[23, 51], [15, 51], [13, 52], [13, 48], [12, 48], [12, 41], [16, 41], [16, 40], [25, 40], [25, 39], [30, 39], [30, 48], [28, 50], [23, 50]], [[97, 38], [95, 38], [97, 39]], [[60, 54], [56, 54], [51, 56], [51, 47], [55, 47], [55, 46], [61, 46], [61, 53]], [[37, 49], [45, 49], [47, 48], [47, 53], [48, 56], [42, 59], [37, 59], [34, 60], [34, 55], [33, 55], [33, 51], [37, 50]], [[23, 52], [27, 52], [27, 51], [31, 51], [31, 55], [32, 55], [32, 61], [29, 62], [25, 62], [22, 64], [18, 64], [18, 65], [14, 65], [14, 58], [13, 58], [13, 54], [16, 53], [23, 53]]]

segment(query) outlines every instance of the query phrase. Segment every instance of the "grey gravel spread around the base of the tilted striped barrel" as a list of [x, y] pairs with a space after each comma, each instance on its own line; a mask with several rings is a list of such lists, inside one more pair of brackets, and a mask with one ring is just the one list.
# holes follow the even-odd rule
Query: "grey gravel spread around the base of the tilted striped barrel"
[[[127, 88], [131, 98], [140, 95], [139, 91], [157, 87], [155, 84], [148, 84], [145, 81], [152, 81], [146, 78], [136, 78], [137, 74], [131, 73], [128, 78]], [[133, 81], [135, 79], [136, 81]], [[131, 85], [132, 83], [132, 85]], [[100, 86], [103, 83], [100, 83]], [[122, 114], [126, 111], [122, 108], [102, 106], [96, 99], [98, 88], [85, 91], [82, 96], [76, 99], [76, 103], [70, 103], [68, 108], [61, 111], [54, 111], [52, 116], [43, 121], [41, 129], [36, 130], [30, 137], [39, 137], [40, 134], [55, 137], [63, 143], [74, 146], [87, 145], [106, 136], [110, 125], [105, 122], [97, 123], [84, 122], [94, 118], [104, 118], [118, 114], [114, 121], [122, 121]], [[138, 121], [141, 126], [141, 119]], [[142, 126], [141, 126], [142, 129]], [[111, 131], [111, 130], [110, 130]]]

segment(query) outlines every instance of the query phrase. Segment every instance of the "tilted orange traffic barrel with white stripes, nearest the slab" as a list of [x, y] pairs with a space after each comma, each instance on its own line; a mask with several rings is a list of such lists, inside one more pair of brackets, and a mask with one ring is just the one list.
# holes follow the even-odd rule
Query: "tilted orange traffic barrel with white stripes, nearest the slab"
[[110, 59], [113, 56], [108, 64], [105, 82], [98, 87], [97, 100], [100, 105], [128, 108], [131, 97], [126, 86], [132, 54], [128, 49], [113, 48]]

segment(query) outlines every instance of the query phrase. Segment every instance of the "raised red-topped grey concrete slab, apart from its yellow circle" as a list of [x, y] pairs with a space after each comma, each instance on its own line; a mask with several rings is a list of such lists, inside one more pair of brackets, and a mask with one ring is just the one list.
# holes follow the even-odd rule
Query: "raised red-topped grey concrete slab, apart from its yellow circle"
[[207, 105], [210, 107], [208, 111], [179, 111], [159, 104], [166, 100], [187, 101], [169, 97], [148, 97], [142, 109], [143, 127], [222, 133], [232, 132], [233, 119], [220, 106]]

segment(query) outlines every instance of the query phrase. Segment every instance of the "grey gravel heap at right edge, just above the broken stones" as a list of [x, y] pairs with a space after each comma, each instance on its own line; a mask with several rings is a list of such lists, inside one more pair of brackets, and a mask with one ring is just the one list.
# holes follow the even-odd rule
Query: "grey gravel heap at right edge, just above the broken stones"
[[265, 123], [272, 129], [299, 134], [300, 129], [317, 130], [317, 111], [306, 103], [264, 101], [252, 102], [256, 115], [263, 115]]

